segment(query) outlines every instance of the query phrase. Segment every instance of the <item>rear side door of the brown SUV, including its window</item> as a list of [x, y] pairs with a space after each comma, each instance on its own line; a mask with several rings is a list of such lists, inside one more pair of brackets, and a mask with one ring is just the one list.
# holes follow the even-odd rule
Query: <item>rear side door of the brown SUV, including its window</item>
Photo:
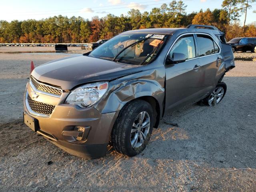
[[216, 79], [218, 68], [221, 66], [223, 58], [220, 55], [220, 47], [212, 36], [208, 34], [196, 34], [196, 42], [201, 66], [200, 96], [204, 96], [215, 88], [218, 82]]

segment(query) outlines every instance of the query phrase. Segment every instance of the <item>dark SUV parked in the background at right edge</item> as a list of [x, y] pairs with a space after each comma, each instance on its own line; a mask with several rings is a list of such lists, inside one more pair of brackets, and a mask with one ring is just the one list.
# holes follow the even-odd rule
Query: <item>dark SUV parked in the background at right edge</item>
[[232, 51], [251, 51], [256, 53], [256, 37], [238, 37], [227, 42], [232, 46]]

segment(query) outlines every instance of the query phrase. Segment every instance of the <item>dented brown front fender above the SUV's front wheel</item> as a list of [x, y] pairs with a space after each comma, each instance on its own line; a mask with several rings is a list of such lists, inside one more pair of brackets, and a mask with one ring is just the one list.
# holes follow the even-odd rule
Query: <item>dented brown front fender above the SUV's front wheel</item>
[[100, 113], [110, 113], [121, 110], [131, 100], [151, 96], [158, 101], [160, 112], [162, 112], [165, 94], [164, 80], [156, 73], [154, 71], [150, 75], [139, 78], [137, 73], [111, 81], [108, 92], [94, 107]]

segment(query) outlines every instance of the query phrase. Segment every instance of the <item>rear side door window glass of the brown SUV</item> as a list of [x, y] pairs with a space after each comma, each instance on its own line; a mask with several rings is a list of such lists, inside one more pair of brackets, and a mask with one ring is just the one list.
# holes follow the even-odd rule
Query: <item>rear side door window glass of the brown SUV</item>
[[197, 45], [199, 56], [206, 56], [210, 54], [214, 54], [215, 51], [218, 52], [218, 46], [216, 45], [216, 50], [214, 48], [214, 41], [210, 36], [207, 35], [196, 35], [197, 36]]

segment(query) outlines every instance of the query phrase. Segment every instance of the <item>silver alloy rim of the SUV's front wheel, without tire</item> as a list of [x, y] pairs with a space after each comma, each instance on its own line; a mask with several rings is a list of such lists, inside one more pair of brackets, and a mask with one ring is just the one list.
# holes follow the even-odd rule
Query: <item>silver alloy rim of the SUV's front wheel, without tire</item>
[[142, 146], [146, 140], [147, 134], [150, 130], [150, 116], [148, 112], [142, 111], [135, 118], [132, 125], [130, 141], [132, 148], [138, 148]]

